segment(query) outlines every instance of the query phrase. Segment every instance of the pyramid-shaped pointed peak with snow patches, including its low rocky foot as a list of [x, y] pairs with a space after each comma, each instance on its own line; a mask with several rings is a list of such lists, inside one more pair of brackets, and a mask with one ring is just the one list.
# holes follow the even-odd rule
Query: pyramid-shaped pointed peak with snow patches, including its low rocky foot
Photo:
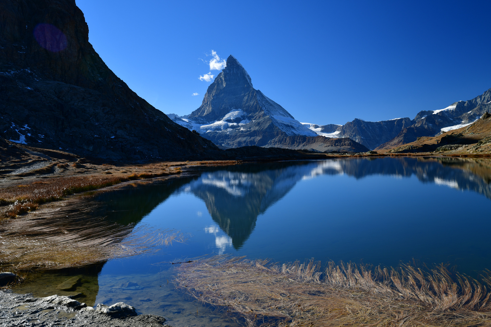
[[[254, 89], [244, 67], [233, 56], [208, 87], [201, 106], [190, 115], [169, 117], [181, 126], [227, 147], [243, 146], [314, 151], [368, 151], [350, 139], [318, 136], [281, 105]], [[336, 137], [336, 133], [326, 135]]]

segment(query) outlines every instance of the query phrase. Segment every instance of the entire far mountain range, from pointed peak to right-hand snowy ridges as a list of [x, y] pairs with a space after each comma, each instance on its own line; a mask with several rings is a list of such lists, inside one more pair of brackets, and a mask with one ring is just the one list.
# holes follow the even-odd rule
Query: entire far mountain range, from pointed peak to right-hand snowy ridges
[[412, 120], [366, 122], [355, 119], [345, 125], [300, 123], [278, 103], [255, 90], [244, 67], [230, 55], [226, 68], [208, 87], [198, 109], [182, 117], [168, 116], [175, 123], [227, 148], [257, 145], [364, 152], [394, 148], [413, 142], [419, 136], [434, 136], [442, 128], [447, 131], [470, 124], [491, 109], [490, 96], [491, 89], [482, 96], [455, 102], [444, 109], [420, 111]]

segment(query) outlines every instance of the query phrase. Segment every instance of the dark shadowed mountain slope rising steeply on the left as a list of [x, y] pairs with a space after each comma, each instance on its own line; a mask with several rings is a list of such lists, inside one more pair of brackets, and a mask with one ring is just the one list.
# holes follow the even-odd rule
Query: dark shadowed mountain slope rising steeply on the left
[[217, 150], [114, 75], [73, 0], [0, 2], [0, 100], [0, 135], [30, 146], [108, 159]]

